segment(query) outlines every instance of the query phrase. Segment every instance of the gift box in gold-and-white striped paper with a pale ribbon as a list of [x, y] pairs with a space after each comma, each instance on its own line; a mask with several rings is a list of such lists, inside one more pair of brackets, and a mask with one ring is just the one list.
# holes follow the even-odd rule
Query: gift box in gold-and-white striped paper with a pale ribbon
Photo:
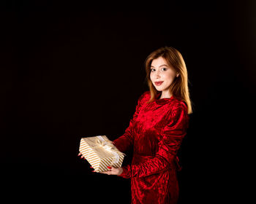
[[124, 160], [124, 153], [107, 136], [81, 138], [79, 151], [96, 172], [109, 170], [108, 166], [119, 168]]

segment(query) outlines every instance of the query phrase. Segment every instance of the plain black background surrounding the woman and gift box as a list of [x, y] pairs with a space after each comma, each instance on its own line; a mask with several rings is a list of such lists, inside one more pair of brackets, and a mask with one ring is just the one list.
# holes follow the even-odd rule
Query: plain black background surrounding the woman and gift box
[[1, 1], [3, 195], [129, 203], [129, 179], [91, 173], [80, 138], [121, 136], [148, 90], [146, 56], [172, 46], [187, 63], [194, 110], [178, 153], [179, 203], [247, 197], [255, 3], [36, 2]]

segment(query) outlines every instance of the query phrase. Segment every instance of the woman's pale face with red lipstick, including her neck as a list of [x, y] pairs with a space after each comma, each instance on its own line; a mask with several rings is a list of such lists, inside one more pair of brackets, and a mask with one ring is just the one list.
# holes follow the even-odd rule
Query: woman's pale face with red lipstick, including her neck
[[165, 59], [159, 57], [152, 60], [150, 79], [158, 91], [162, 91], [162, 96], [170, 97], [169, 87], [176, 77], [176, 71], [172, 66], [168, 66]]

